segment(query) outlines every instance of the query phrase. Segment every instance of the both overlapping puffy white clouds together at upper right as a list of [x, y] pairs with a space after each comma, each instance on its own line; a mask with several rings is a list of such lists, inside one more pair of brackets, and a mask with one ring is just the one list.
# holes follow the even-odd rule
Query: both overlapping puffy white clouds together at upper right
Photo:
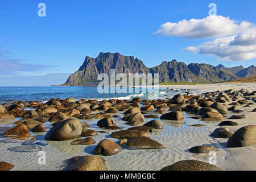
[[208, 16], [203, 19], [167, 22], [154, 34], [179, 36], [187, 39], [214, 39], [184, 51], [217, 56], [218, 60], [243, 61], [256, 58], [256, 26], [237, 22], [229, 17]]

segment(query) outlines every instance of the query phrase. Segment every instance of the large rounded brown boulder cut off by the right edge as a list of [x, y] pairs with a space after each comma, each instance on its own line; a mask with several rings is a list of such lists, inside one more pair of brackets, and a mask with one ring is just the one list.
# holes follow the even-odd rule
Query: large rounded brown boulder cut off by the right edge
[[248, 125], [238, 129], [229, 138], [228, 147], [246, 147], [256, 143], [256, 125]]

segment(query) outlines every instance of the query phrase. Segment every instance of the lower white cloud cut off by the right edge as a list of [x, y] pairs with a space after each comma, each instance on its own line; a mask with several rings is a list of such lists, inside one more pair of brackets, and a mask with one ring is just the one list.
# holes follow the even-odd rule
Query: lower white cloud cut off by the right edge
[[251, 60], [256, 58], [256, 28], [238, 35], [218, 38], [196, 47], [184, 48], [184, 51], [217, 56], [219, 60]]

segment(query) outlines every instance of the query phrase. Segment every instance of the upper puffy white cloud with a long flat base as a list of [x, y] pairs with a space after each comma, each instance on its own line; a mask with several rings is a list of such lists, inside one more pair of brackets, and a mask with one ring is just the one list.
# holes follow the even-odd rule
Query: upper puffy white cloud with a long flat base
[[162, 24], [154, 34], [180, 36], [187, 39], [220, 38], [240, 34], [252, 27], [250, 22], [237, 22], [224, 16], [207, 16], [204, 19], [181, 20]]

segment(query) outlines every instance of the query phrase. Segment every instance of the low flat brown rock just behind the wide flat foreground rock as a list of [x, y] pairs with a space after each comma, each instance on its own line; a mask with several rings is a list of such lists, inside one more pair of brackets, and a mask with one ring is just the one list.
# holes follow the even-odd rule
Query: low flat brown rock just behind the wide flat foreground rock
[[148, 133], [137, 130], [121, 130], [113, 132], [110, 137], [112, 138], [137, 138], [137, 137], [149, 137]]

